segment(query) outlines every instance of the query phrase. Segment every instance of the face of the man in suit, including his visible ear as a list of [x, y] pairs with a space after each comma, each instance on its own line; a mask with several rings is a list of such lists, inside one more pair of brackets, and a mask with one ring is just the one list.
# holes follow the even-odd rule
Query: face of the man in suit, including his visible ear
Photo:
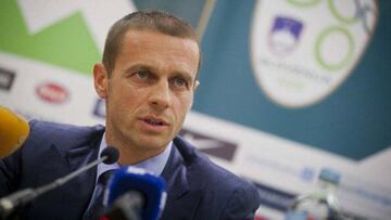
[[150, 30], [128, 30], [108, 78], [94, 66], [106, 101], [106, 134], [122, 145], [160, 152], [191, 108], [199, 63], [195, 41]]

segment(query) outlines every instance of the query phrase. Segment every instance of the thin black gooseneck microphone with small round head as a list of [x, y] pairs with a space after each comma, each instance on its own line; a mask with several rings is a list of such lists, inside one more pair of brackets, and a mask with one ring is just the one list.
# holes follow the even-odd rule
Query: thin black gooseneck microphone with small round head
[[79, 176], [80, 173], [87, 171], [88, 169], [97, 166], [100, 163], [104, 164], [114, 164], [118, 160], [119, 153], [113, 146], [105, 147], [102, 153], [100, 154], [100, 158], [91, 161], [90, 164], [71, 172], [70, 174], [59, 178], [53, 182], [46, 184], [43, 186], [33, 189], [28, 187], [18, 192], [15, 192], [7, 197], [0, 199], [0, 219], [7, 219], [13, 211], [24, 205], [27, 205], [36, 197], [52, 191], [61, 185], [65, 184], [70, 180], [74, 179], [75, 177]]

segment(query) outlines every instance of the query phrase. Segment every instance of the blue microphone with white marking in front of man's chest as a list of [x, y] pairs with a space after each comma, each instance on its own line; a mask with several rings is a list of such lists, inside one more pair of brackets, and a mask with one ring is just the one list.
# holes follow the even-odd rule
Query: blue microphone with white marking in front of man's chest
[[144, 169], [123, 167], [113, 174], [108, 195], [110, 209], [104, 217], [157, 220], [167, 198], [166, 183]]

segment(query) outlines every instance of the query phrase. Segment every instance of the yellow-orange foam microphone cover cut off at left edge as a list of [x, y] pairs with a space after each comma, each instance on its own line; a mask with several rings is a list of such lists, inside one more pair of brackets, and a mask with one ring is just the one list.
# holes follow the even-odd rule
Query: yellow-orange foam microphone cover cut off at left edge
[[0, 159], [21, 147], [28, 133], [29, 126], [24, 118], [0, 106]]

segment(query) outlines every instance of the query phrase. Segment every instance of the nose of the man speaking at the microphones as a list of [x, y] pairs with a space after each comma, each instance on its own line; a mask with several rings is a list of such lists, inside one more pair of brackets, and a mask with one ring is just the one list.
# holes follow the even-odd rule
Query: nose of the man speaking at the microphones
[[167, 108], [171, 105], [171, 90], [168, 81], [159, 81], [152, 87], [150, 104], [159, 109]]

